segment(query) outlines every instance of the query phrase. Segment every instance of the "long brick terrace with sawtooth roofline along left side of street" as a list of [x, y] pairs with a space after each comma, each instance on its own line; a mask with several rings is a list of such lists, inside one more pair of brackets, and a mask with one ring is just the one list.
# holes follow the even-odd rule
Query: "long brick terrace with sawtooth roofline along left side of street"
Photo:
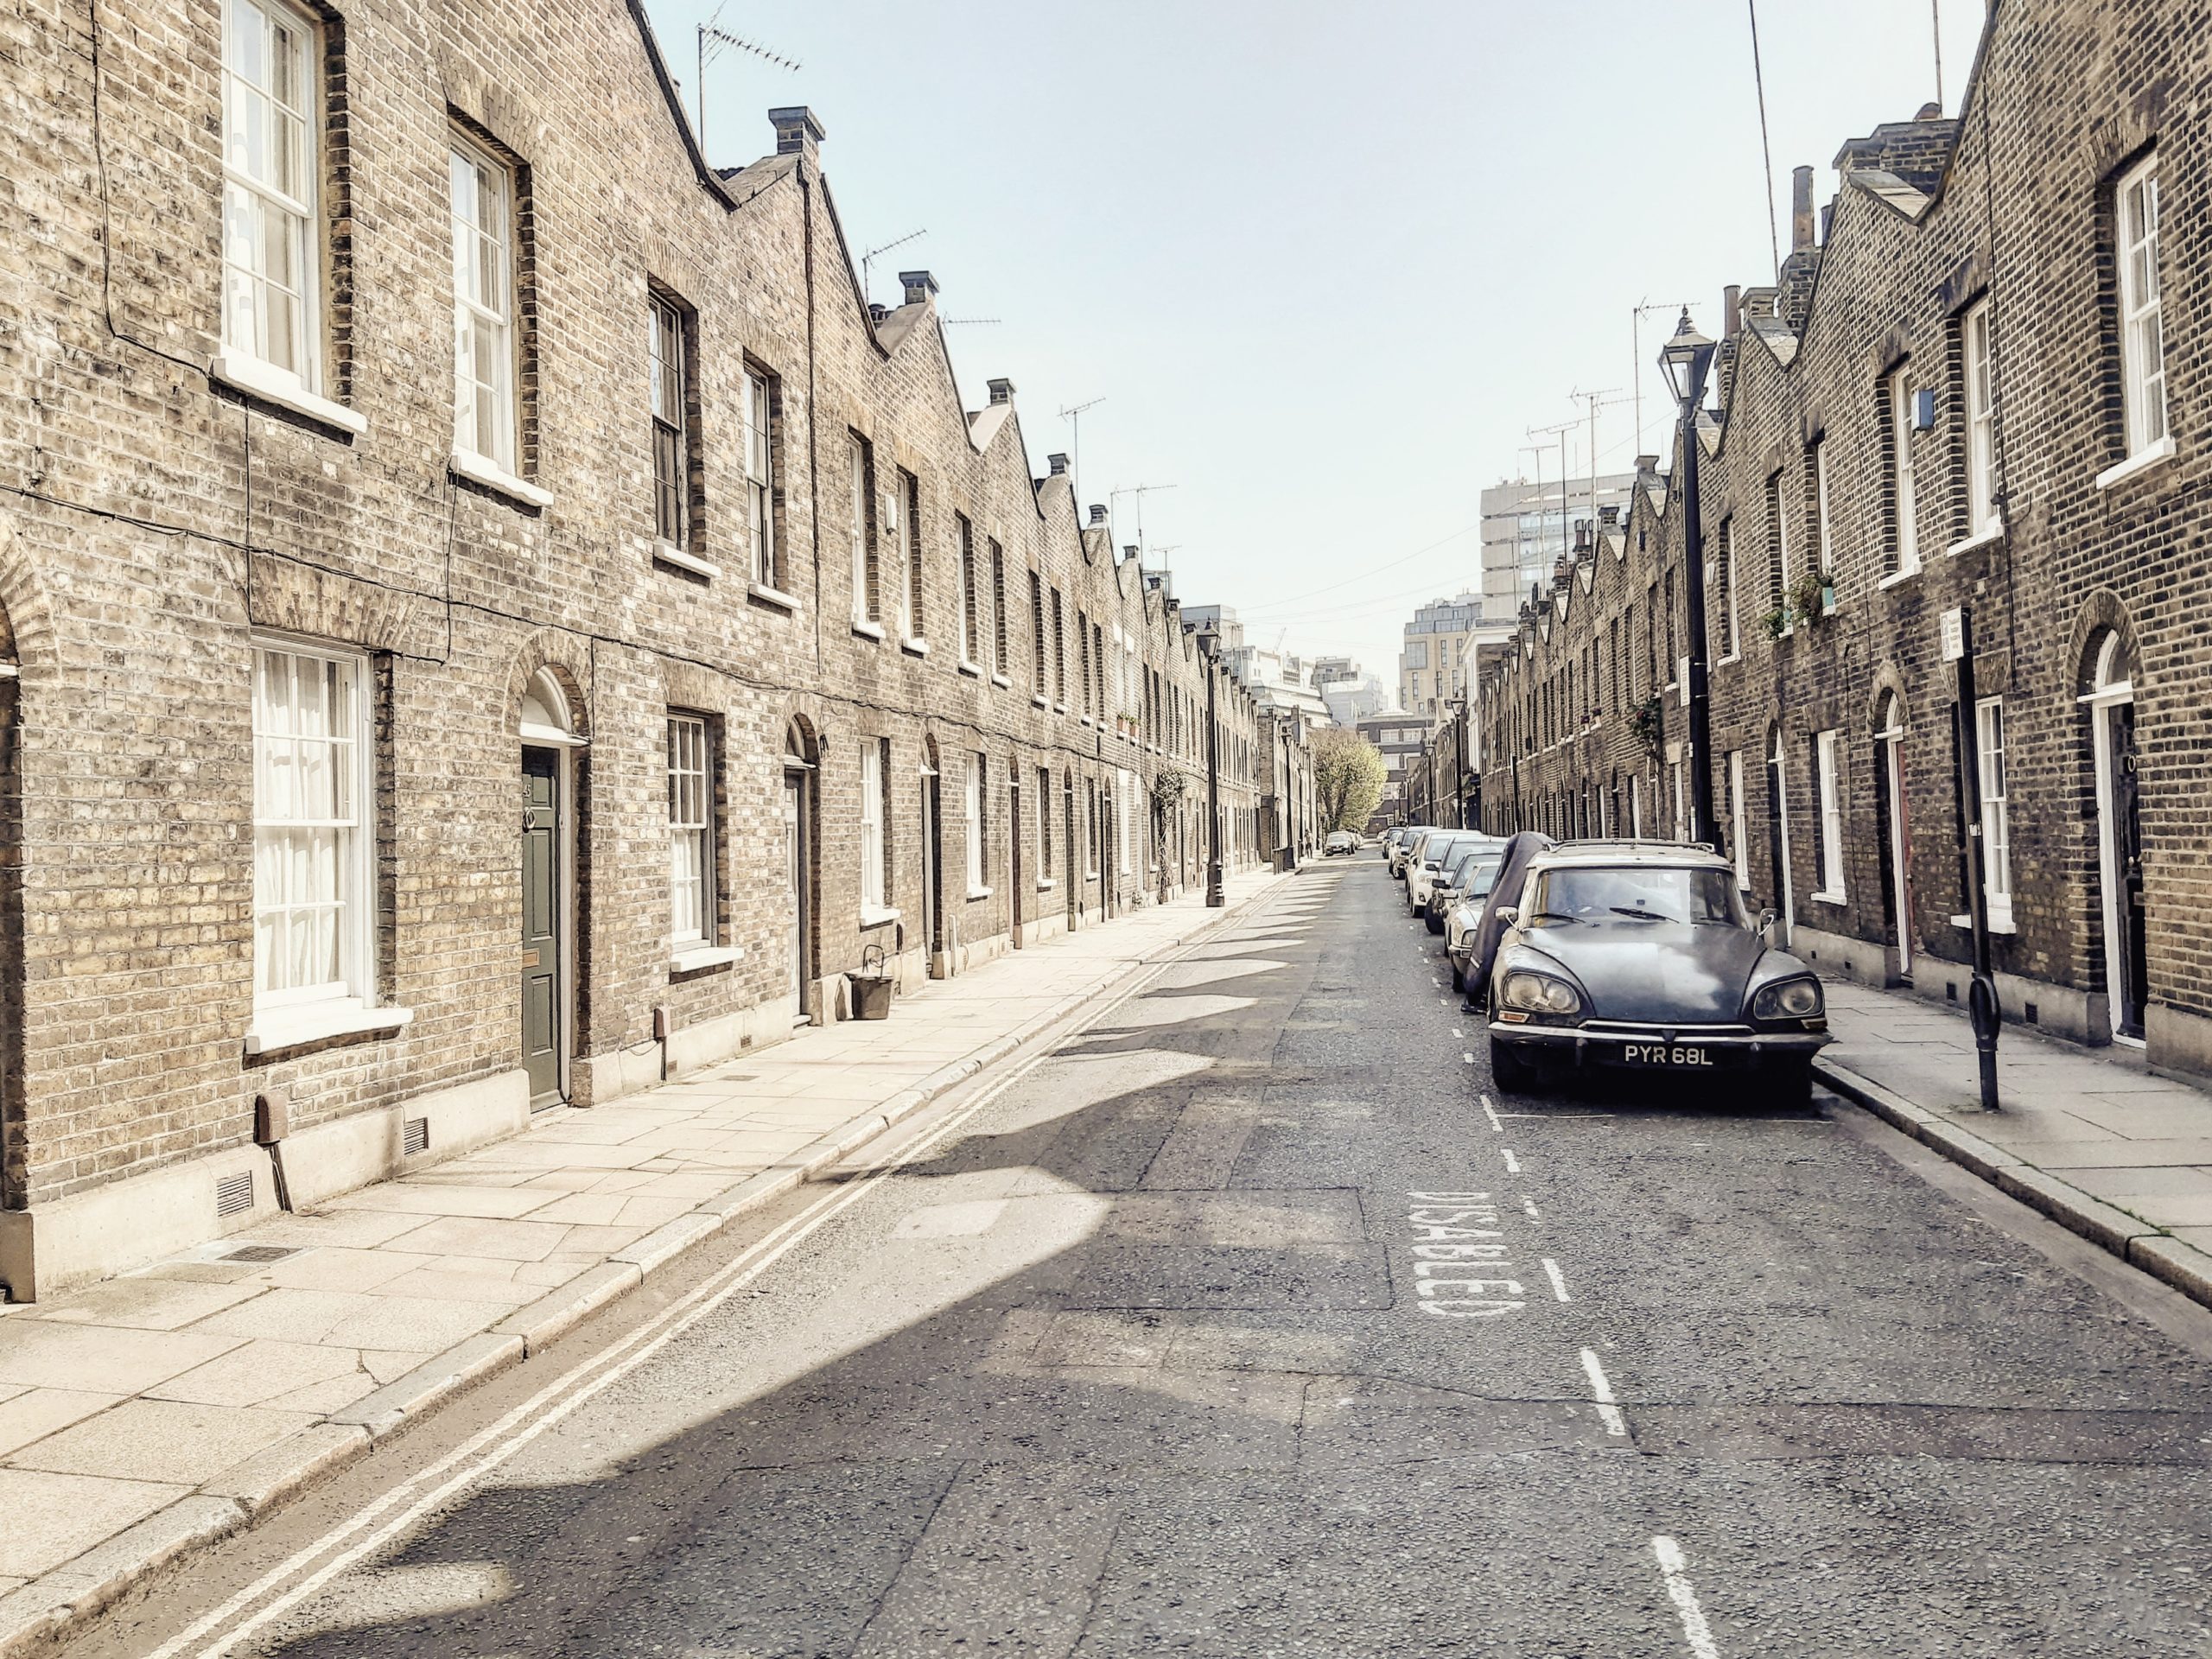
[[18, 1298], [265, 1217], [257, 1102], [314, 1201], [1201, 883], [1210, 672], [1261, 856], [1250, 697], [635, 0], [0, 58]]

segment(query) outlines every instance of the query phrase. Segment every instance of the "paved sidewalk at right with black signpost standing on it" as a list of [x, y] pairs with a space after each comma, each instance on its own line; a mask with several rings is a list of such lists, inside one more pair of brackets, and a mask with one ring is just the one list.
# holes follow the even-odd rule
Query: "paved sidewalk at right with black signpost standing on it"
[[2212, 1307], [2212, 1093], [2008, 1024], [1984, 1113], [1964, 1011], [1829, 980], [1827, 1020], [1836, 1093]]

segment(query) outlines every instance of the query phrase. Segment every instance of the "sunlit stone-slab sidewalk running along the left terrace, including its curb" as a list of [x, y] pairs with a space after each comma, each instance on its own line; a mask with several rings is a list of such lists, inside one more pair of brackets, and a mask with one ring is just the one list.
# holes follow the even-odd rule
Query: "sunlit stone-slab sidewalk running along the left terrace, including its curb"
[[535, 1354], [646, 1274], [1274, 891], [1011, 951], [695, 1077], [88, 1290], [0, 1307], [0, 1655]]

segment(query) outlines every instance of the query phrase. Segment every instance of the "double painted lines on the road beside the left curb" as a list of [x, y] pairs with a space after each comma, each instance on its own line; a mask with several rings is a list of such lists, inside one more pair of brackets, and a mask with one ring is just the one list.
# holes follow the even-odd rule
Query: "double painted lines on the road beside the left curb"
[[[546, 1387], [533, 1394], [529, 1400], [518, 1405], [498, 1422], [484, 1427], [462, 1444], [453, 1447], [445, 1458], [429, 1464], [411, 1480], [394, 1486], [389, 1493], [365, 1506], [352, 1522], [336, 1528], [327, 1537], [316, 1540], [307, 1548], [294, 1553], [283, 1564], [261, 1575], [254, 1584], [232, 1595], [219, 1608], [201, 1617], [186, 1630], [155, 1648], [146, 1659], [177, 1659], [177, 1655], [192, 1650], [195, 1644], [206, 1641], [221, 1632], [212, 1646], [197, 1648], [197, 1659], [223, 1659], [223, 1655], [237, 1652], [239, 1644], [252, 1637], [257, 1630], [268, 1626], [272, 1619], [290, 1613], [310, 1595], [321, 1590], [338, 1573], [358, 1566], [365, 1557], [385, 1548], [392, 1540], [403, 1535], [409, 1526], [420, 1522], [425, 1515], [434, 1513], [442, 1504], [451, 1502], [460, 1491], [476, 1484], [493, 1469], [504, 1464], [518, 1451], [522, 1451], [531, 1440], [542, 1436], [546, 1429], [566, 1420], [571, 1411], [586, 1405], [639, 1365], [659, 1354], [677, 1336], [684, 1336], [692, 1325], [703, 1321], [726, 1301], [745, 1290], [754, 1279], [768, 1272], [783, 1254], [803, 1243], [810, 1234], [827, 1225], [836, 1214], [849, 1210], [854, 1203], [865, 1199], [878, 1186], [898, 1175], [907, 1164], [920, 1159], [938, 1141], [947, 1139], [967, 1124], [975, 1113], [1004, 1095], [1013, 1084], [1035, 1071], [1044, 1060], [1051, 1057], [1051, 1048], [1033, 1055], [1026, 1064], [1011, 1071], [1000, 1082], [984, 1088], [975, 1099], [971, 1099], [960, 1110], [951, 1113], [931, 1133], [918, 1137], [914, 1144], [900, 1150], [900, 1155], [887, 1164], [876, 1175], [854, 1181], [849, 1188], [827, 1194], [825, 1199], [812, 1203], [810, 1208], [794, 1214], [790, 1221], [779, 1225], [774, 1232], [765, 1234], [743, 1254], [726, 1263], [714, 1276], [695, 1285], [686, 1296], [670, 1303], [653, 1321], [639, 1325], [617, 1345], [602, 1354], [593, 1354], [580, 1365], [571, 1367], [562, 1376], [553, 1378]], [[597, 1376], [593, 1376], [597, 1371]], [[566, 1396], [566, 1398], [562, 1398]], [[458, 1473], [456, 1473], [458, 1471]], [[451, 1475], [447, 1480], [447, 1475]], [[407, 1502], [414, 1498], [414, 1502]], [[387, 1520], [389, 1517], [389, 1520]], [[376, 1522], [385, 1522], [378, 1526]], [[374, 1531], [369, 1531], [374, 1528]], [[347, 1542], [356, 1540], [356, 1542]], [[336, 1551], [336, 1553], [332, 1553]], [[285, 1579], [301, 1573], [316, 1557], [330, 1557], [307, 1577], [299, 1579], [290, 1588]], [[274, 1595], [265, 1606], [246, 1619], [239, 1619], [246, 1608], [254, 1606], [263, 1597]]]

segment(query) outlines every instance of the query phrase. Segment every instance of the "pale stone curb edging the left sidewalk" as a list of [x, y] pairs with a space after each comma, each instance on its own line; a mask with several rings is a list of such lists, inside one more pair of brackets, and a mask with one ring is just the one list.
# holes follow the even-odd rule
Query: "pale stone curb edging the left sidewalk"
[[[1274, 887], [1270, 885], [1252, 898], [1272, 891]], [[1157, 949], [1181, 949], [1243, 911], [1243, 907], [1230, 905], [1219, 911], [1201, 911], [1201, 920], [1188, 933], [1164, 940]], [[706, 1239], [712, 1239], [737, 1217], [843, 1164], [854, 1150], [867, 1146], [867, 1141], [887, 1128], [914, 1117], [922, 1106], [929, 1106], [975, 1073], [1020, 1053], [1084, 1004], [1137, 978], [1150, 960], [1150, 956], [1121, 958], [1113, 969], [1084, 982], [1044, 1013], [1033, 1015], [1002, 1037], [993, 1037], [982, 1048], [938, 1066], [880, 1106], [869, 1106], [814, 1137], [779, 1164], [748, 1175], [695, 1210], [655, 1228], [551, 1296], [518, 1307], [489, 1332], [456, 1343], [445, 1354], [354, 1400], [347, 1409], [334, 1411], [323, 1422], [310, 1425], [279, 1440], [274, 1447], [265, 1447], [252, 1458], [232, 1464], [188, 1498], [179, 1498], [115, 1537], [0, 1595], [0, 1659], [51, 1652], [53, 1644], [73, 1626], [91, 1619], [124, 1595], [124, 1590], [153, 1577], [179, 1555], [234, 1533], [263, 1511], [354, 1462], [394, 1431], [418, 1422], [478, 1383], [544, 1352], [591, 1314], [630, 1294], [650, 1274]], [[2205, 1259], [2205, 1283], [2212, 1287], [2212, 1256]]]

